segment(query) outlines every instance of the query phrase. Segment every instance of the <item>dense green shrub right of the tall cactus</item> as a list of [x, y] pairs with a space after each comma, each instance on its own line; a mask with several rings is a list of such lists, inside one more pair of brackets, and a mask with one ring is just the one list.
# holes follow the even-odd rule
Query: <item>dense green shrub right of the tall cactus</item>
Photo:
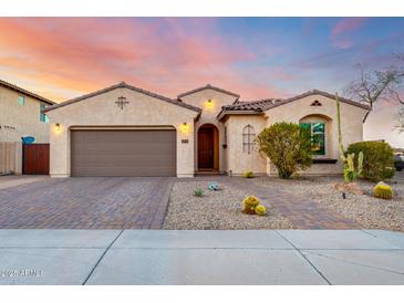
[[380, 181], [394, 177], [393, 148], [384, 142], [360, 142], [348, 147], [348, 154], [363, 153], [362, 177]]

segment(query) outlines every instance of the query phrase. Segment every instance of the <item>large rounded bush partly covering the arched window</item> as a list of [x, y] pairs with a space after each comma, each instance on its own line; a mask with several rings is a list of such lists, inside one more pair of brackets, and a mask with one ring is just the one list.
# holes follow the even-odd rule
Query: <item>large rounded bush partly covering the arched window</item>
[[282, 179], [312, 164], [310, 132], [294, 123], [276, 123], [257, 137], [259, 152], [277, 167]]

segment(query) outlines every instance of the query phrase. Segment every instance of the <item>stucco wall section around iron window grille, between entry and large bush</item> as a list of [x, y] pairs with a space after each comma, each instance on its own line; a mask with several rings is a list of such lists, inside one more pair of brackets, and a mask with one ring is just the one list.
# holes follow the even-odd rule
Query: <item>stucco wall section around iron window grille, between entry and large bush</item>
[[247, 170], [257, 175], [266, 174], [267, 160], [258, 153], [258, 146], [250, 154], [242, 149], [242, 129], [248, 124], [253, 127], [257, 136], [266, 127], [267, 121], [263, 115], [234, 115], [226, 121], [228, 170], [232, 175], [242, 175]]

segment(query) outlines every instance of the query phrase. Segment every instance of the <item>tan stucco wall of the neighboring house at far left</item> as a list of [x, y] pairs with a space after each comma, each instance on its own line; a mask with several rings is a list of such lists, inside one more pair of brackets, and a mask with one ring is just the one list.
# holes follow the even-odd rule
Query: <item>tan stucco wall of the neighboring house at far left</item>
[[0, 85], [0, 142], [21, 142], [21, 137], [33, 136], [35, 143], [49, 143], [49, 125], [40, 122], [41, 102], [25, 97], [25, 104], [19, 104], [22, 95]]

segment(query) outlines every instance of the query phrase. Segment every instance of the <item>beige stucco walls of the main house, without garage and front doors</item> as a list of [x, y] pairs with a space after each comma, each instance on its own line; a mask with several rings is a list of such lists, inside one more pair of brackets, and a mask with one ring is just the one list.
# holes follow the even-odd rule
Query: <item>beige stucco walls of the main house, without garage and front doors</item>
[[[338, 159], [336, 103], [322, 94], [308, 94], [291, 102], [274, 103], [273, 106], [251, 107], [257, 102], [239, 102], [237, 94], [210, 85], [199, 87], [169, 100], [153, 93], [127, 88], [126, 84], [56, 105], [46, 112], [50, 117], [51, 167], [53, 177], [68, 177], [71, 174], [71, 130], [75, 128], [162, 128], [176, 129], [176, 175], [193, 177], [198, 169], [198, 132], [210, 125], [218, 130], [218, 146], [215, 157], [218, 166], [213, 171], [241, 175], [247, 170], [256, 175], [273, 175], [273, 165], [263, 158], [258, 146], [245, 148], [244, 133], [248, 126], [257, 136], [263, 128], [277, 122], [322, 122], [325, 125], [325, 155], [315, 158]], [[133, 86], [132, 86], [133, 87]], [[118, 97], [124, 96], [127, 104], [117, 106]], [[320, 106], [313, 106], [313, 102]], [[261, 103], [259, 103], [261, 104]], [[263, 102], [262, 104], [271, 104]], [[242, 111], [236, 111], [237, 106]], [[236, 107], [234, 107], [236, 106]], [[246, 108], [247, 109], [246, 109]], [[345, 146], [362, 140], [362, 118], [366, 113], [363, 106], [341, 103], [342, 134]], [[55, 130], [55, 125], [60, 130]], [[187, 127], [184, 127], [186, 125]], [[213, 126], [211, 126], [213, 125]], [[217, 144], [216, 144], [217, 145]], [[340, 164], [314, 164], [304, 174], [340, 174]]]

